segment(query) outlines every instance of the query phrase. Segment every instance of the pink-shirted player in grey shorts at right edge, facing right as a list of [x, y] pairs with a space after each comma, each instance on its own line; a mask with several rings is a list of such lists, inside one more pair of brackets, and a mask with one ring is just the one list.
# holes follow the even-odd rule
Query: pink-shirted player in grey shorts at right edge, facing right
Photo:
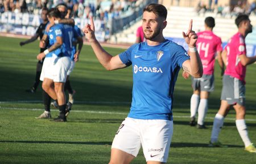
[[237, 130], [245, 144], [245, 150], [256, 153], [251, 143], [245, 124], [245, 73], [246, 66], [256, 61], [255, 57], [246, 57], [245, 37], [251, 33], [253, 27], [248, 15], [241, 14], [236, 18], [238, 32], [230, 38], [228, 45], [222, 52], [222, 59], [226, 65], [221, 93], [221, 106], [213, 122], [212, 136], [209, 146], [223, 146], [218, 141], [218, 134], [228, 114], [230, 106], [236, 111]]

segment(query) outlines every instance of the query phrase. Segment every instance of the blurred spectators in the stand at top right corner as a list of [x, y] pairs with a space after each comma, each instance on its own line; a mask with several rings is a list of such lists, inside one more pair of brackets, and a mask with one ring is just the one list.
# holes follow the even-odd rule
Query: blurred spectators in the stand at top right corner
[[237, 2], [230, 1], [225, 5], [218, 5], [218, 0], [209, 0], [208, 4], [205, 1], [199, 1], [196, 6], [198, 14], [205, 14], [205, 12], [214, 12], [223, 17], [234, 17], [238, 14], [254, 14], [256, 15], [256, 0], [247, 1], [241, 0]]

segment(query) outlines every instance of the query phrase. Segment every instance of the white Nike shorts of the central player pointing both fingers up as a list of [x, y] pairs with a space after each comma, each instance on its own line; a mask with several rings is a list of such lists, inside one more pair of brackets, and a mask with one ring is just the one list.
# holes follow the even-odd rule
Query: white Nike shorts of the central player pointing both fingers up
[[126, 118], [115, 134], [112, 148], [136, 157], [142, 145], [146, 161], [167, 162], [172, 133], [172, 120]]

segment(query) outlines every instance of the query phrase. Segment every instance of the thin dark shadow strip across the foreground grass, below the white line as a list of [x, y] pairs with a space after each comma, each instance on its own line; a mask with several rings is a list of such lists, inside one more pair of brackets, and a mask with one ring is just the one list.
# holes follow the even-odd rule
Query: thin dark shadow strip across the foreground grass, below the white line
[[[78, 145], [112, 145], [109, 141], [82, 142], [82, 141], [0, 141], [0, 143], [24, 143], [24, 144], [78, 144]], [[242, 148], [241, 145], [227, 145], [228, 148]], [[171, 143], [171, 148], [209, 148], [208, 144], [202, 143]]]

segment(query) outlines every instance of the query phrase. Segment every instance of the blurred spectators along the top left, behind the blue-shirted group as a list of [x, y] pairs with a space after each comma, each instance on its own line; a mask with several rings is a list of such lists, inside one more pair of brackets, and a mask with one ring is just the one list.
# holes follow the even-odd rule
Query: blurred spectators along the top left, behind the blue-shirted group
[[133, 8], [142, 2], [143, 0], [0, 0], [0, 12], [40, 14], [43, 7], [52, 8], [59, 3], [65, 3], [72, 8], [75, 18], [89, 18], [92, 15], [101, 20], [108, 20], [132, 12]]

